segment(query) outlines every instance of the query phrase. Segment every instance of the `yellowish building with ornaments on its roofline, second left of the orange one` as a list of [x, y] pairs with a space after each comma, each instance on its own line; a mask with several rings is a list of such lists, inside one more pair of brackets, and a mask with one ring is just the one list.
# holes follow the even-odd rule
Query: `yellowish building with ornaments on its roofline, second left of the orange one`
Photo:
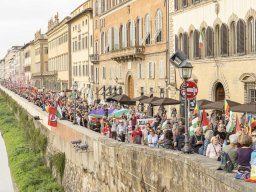
[[48, 72], [45, 86], [51, 90], [65, 90], [71, 87], [70, 67], [70, 17], [59, 21], [58, 14], [48, 22]]

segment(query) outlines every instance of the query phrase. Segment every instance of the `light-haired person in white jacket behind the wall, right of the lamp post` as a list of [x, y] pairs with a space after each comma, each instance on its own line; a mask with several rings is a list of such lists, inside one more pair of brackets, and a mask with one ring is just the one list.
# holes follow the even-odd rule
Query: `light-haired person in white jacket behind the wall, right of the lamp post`
[[221, 145], [219, 143], [219, 139], [217, 137], [212, 137], [211, 143], [207, 146], [206, 149], [206, 157], [218, 160], [218, 158], [220, 158], [220, 155]]

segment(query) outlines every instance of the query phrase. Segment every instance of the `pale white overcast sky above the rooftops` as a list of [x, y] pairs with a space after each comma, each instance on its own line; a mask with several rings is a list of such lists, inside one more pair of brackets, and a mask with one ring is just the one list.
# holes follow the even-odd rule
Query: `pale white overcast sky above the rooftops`
[[57, 12], [62, 20], [86, 0], [0, 0], [0, 59], [14, 45], [33, 40]]

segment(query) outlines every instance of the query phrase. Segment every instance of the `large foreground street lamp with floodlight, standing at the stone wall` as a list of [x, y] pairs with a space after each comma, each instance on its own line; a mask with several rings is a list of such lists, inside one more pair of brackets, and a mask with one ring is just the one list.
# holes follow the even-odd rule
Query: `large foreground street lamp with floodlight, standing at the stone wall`
[[188, 105], [187, 105], [187, 80], [191, 78], [193, 66], [188, 62], [186, 55], [178, 51], [170, 58], [171, 63], [178, 68], [180, 78], [183, 80], [184, 93], [185, 93], [185, 145], [183, 148], [184, 153], [191, 153], [192, 148], [188, 136]]

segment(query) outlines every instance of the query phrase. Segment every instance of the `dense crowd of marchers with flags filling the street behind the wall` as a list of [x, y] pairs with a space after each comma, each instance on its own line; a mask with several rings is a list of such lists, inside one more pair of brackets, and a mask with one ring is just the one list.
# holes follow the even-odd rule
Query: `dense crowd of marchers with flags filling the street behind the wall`
[[[148, 117], [146, 113], [135, 106], [126, 106], [129, 112], [122, 114], [121, 117], [110, 117], [108, 110], [121, 109], [124, 106], [100, 102], [89, 105], [86, 99], [82, 97], [78, 96], [75, 100], [72, 99], [71, 92], [39, 92], [35, 89], [25, 88], [25, 90], [21, 90], [19, 87], [9, 84], [3, 85], [41, 107], [42, 110], [46, 110], [47, 106], [57, 107], [59, 105], [62, 111], [61, 120], [73, 122], [76, 118], [75, 122], [78, 125], [121, 142], [179, 151], [185, 145], [184, 121], [176, 117], [175, 108], [172, 110], [170, 119], [167, 119], [166, 111], [161, 108], [161, 113], [157, 113], [153, 117], [153, 123], [141, 125], [138, 123], [138, 119]], [[90, 117], [90, 111], [97, 109], [106, 111], [105, 115], [102, 118]], [[249, 133], [246, 125], [240, 124], [240, 131], [234, 130], [228, 133], [226, 131], [227, 122], [222, 116], [211, 115], [209, 122], [206, 129], [197, 126], [194, 134], [190, 136], [189, 142], [192, 151], [222, 163], [226, 163], [223, 162], [223, 154], [225, 154], [225, 157], [228, 157], [232, 163], [231, 169], [238, 170], [239, 174], [243, 173], [242, 177], [247, 177], [244, 176], [244, 173], [250, 172], [251, 154], [256, 149], [256, 127], [252, 127], [252, 131]]]

